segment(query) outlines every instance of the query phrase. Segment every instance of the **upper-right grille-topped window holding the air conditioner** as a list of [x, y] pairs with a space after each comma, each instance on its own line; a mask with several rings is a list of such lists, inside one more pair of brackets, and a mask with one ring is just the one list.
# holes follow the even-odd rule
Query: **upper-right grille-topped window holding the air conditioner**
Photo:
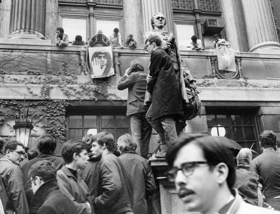
[[206, 20], [223, 23], [219, 0], [172, 0], [172, 5], [180, 50], [186, 50], [187, 46], [190, 46], [192, 35], [196, 35], [206, 49], [212, 48], [214, 34], [221, 33], [226, 39], [222, 28], [213, 28], [214, 30], [209, 32], [204, 25]]

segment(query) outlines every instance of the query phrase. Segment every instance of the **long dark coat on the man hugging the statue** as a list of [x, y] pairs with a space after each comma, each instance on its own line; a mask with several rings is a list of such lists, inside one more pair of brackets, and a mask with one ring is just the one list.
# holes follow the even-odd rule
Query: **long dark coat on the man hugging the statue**
[[153, 82], [147, 84], [147, 91], [153, 96], [152, 120], [163, 115], [183, 114], [176, 75], [170, 56], [161, 48], [151, 54], [150, 76]]

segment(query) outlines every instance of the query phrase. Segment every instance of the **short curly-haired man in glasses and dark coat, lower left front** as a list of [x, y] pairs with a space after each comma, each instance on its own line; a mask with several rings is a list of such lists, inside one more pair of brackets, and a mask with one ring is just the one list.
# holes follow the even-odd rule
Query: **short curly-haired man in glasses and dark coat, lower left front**
[[30, 180], [34, 196], [32, 202], [39, 206], [38, 214], [78, 214], [76, 206], [58, 187], [56, 168], [48, 160], [41, 160], [31, 166]]

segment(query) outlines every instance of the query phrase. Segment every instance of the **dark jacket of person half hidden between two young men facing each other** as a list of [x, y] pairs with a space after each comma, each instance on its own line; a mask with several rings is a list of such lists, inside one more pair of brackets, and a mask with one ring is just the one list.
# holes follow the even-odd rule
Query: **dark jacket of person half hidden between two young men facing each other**
[[97, 196], [97, 187], [99, 183], [99, 166], [100, 160], [91, 158], [88, 160], [86, 167], [81, 170], [81, 178], [88, 186], [88, 193], [90, 194], [90, 203], [93, 204], [94, 198]]

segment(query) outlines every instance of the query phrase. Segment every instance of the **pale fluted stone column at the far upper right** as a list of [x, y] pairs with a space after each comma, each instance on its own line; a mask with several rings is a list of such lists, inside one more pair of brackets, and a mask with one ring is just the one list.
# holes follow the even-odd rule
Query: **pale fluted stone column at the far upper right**
[[269, 0], [241, 0], [249, 52], [280, 49]]

